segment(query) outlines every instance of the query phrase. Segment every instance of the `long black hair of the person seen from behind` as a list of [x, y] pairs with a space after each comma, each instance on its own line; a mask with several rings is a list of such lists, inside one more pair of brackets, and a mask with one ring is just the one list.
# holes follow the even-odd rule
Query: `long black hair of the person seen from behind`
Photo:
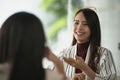
[[0, 32], [0, 63], [11, 62], [9, 80], [45, 80], [46, 38], [41, 21], [28, 12], [10, 16]]

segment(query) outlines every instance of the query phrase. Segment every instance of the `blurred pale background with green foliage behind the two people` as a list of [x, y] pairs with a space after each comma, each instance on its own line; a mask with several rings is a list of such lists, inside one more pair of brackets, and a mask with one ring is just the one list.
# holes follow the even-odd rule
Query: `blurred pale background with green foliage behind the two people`
[[72, 25], [79, 8], [94, 9], [100, 19], [102, 46], [111, 50], [120, 80], [120, 0], [0, 0], [0, 26], [11, 14], [28, 11], [43, 22], [47, 45], [59, 52], [71, 45]]

